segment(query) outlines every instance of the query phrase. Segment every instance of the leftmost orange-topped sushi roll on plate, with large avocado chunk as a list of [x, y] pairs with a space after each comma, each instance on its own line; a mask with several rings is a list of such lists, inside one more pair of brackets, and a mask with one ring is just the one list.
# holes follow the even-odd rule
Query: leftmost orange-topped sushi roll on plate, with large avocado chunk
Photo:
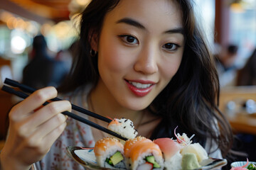
[[126, 169], [124, 145], [116, 138], [105, 137], [95, 143], [97, 164], [106, 168]]

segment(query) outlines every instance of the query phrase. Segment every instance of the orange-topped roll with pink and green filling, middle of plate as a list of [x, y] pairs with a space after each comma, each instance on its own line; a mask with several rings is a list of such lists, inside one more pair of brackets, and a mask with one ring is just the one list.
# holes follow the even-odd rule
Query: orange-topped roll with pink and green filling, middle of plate
[[164, 169], [164, 159], [158, 145], [144, 137], [128, 140], [124, 145], [124, 154], [129, 158], [129, 169]]

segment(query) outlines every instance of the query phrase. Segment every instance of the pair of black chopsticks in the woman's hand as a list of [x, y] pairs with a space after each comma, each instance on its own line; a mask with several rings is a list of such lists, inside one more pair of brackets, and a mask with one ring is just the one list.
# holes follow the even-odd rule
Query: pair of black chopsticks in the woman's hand
[[[4, 81], [4, 83], [5, 83], [5, 84], [8, 84], [8, 85], [10, 85], [10, 86], [18, 87], [19, 89], [21, 89], [21, 90], [23, 90], [23, 91], [26, 91], [26, 92], [28, 92], [28, 93], [33, 93], [33, 91], [36, 90], [36, 89], [33, 89], [33, 88], [31, 88], [31, 87], [29, 87], [29, 86], [26, 86], [26, 85], [24, 85], [24, 84], [19, 84], [17, 81], [14, 81], [14, 80], [11, 80], [11, 79], [6, 79], [6, 81]], [[6, 91], [6, 92], [9, 93], [9, 94], [14, 94], [14, 95], [16, 95], [16, 96], [18, 96], [18, 97], [20, 97], [20, 98], [24, 98], [24, 99], [25, 99], [25, 98], [28, 97], [28, 94], [25, 94], [25, 93], [23, 93], [22, 91], [16, 91], [15, 89], [12, 89], [11, 87], [6, 86], [6, 85], [2, 86], [2, 90], [3, 90], [3, 91]], [[53, 99], [51, 99], [50, 101], [61, 101], [61, 99], [60, 99], [60, 98], [53, 98]], [[49, 103], [49, 102], [43, 103], [43, 106], [47, 105], [48, 103]], [[92, 113], [92, 112], [90, 112], [90, 111], [85, 110], [84, 108], [80, 108], [80, 107], [75, 106], [75, 105], [73, 105], [73, 104], [72, 104], [72, 108], [73, 108], [74, 110], [76, 110], [76, 111], [82, 111], [82, 113], [85, 113], [85, 114], [87, 114], [87, 115], [90, 115], [90, 116], [92, 116], [92, 117], [94, 117], [94, 118], [98, 118], [98, 119], [100, 119], [100, 120], [104, 120], [104, 121], [107, 122], [107, 123], [110, 123], [110, 121], [112, 121], [112, 120], [110, 120], [110, 119], [108, 119], [108, 118], [105, 118], [105, 117], [103, 117], [103, 116], [101, 116], [101, 115], [97, 115], [96, 113]], [[82, 123], [85, 123], [85, 124], [87, 124], [87, 125], [90, 125], [90, 126], [92, 126], [93, 128], [97, 128], [98, 130], [102, 130], [103, 132], [106, 132], [106, 133], [108, 133], [108, 134], [110, 134], [110, 135], [112, 135], [112, 136], [114, 136], [114, 137], [118, 137], [118, 138], [121, 139], [121, 140], [127, 140], [126, 137], [122, 137], [121, 135], [117, 134], [116, 132], [112, 132], [111, 130], [108, 130], [107, 128], [104, 128], [104, 127], [102, 127], [102, 126], [100, 126], [100, 125], [97, 125], [96, 123], [92, 123], [92, 122], [90, 122], [90, 120], [87, 120], [87, 119], [82, 118], [82, 117], [80, 117], [80, 116], [78, 116], [78, 115], [75, 115], [74, 113], [70, 113], [70, 112], [68, 112], [68, 111], [65, 111], [65, 112], [63, 112], [63, 114], [64, 114], [64, 115], [68, 115], [70, 118], [73, 118], [73, 119], [75, 119], [75, 120], [78, 120], [78, 121], [80, 121], [80, 122], [82, 122]]]

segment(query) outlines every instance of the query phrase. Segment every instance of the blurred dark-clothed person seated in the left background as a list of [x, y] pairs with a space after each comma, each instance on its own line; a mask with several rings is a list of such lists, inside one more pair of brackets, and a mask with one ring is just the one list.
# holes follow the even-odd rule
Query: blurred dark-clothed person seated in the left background
[[57, 87], [63, 81], [68, 72], [65, 64], [50, 57], [47, 49], [43, 35], [33, 39], [32, 60], [23, 69], [23, 84], [40, 89], [45, 86]]

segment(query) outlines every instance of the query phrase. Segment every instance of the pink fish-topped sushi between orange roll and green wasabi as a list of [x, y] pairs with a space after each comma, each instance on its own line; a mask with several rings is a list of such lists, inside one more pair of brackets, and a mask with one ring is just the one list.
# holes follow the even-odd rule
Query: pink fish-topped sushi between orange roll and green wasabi
[[159, 145], [164, 154], [164, 166], [167, 170], [182, 169], [182, 155], [180, 153], [183, 148], [182, 145], [168, 137], [156, 139], [154, 143]]

